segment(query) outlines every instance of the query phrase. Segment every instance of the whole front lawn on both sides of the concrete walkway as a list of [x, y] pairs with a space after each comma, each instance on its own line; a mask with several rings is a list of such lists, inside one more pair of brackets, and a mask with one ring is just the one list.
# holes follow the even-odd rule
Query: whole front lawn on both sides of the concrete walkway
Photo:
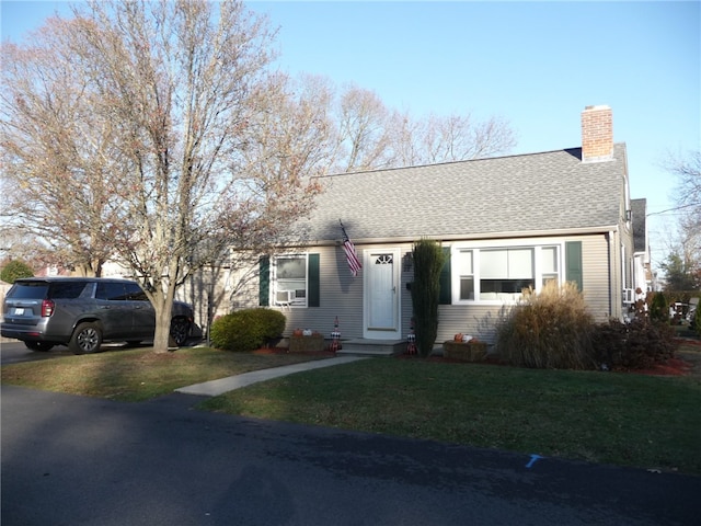
[[[698, 347], [693, 351], [701, 356]], [[690, 356], [690, 355], [689, 355]], [[2, 381], [138, 401], [310, 356], [150, 348], [3, 366]], [[202, 409], [701, 474], [701, 378], [375, 358], [257, 384]]]

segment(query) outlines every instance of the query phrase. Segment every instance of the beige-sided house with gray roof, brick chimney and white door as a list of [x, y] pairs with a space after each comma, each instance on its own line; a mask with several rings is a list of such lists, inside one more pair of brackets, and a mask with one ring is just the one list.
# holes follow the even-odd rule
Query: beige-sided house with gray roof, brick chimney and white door
[[[337, 319], [345, 341], [405, 348], [421, 238], [449, 254], [439, 342], [458, 332], [493, 340], [499, 310], [551, 279], [575, 282], [598, 321], [622, 319], [633, 290], [646, 289], [645, 202], [630, 198], [625, 145], [613, 142], [608, 106], [582, 112], [581, 147], [320, 183], [324, 192], [300, 225], [304, 241], [260, 262], [257, 305], [281, 309], [288, 333], [329, 336]], [[356, 276], [341, 222], [361, 263]]]

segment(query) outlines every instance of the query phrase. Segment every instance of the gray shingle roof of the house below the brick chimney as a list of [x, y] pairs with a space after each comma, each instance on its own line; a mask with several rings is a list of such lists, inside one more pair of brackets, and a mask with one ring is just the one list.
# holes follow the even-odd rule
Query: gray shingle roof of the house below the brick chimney
[[620, 221], [625, 145], [582, 162], [572, 148], [320, 178], [310, 240], [484, 237], [610, 227]]

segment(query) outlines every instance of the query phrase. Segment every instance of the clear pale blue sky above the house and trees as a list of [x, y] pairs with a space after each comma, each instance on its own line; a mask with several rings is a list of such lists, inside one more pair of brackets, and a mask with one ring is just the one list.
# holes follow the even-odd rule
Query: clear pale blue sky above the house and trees
[[[376, 92], [422, 116], [498, 116], [509, 153], [581, 146], [581, 113], [606, 104], [625, 142], [632, 198], [646, 198], [653, 266], [676, 225], [669, 156], [701, 149], [701, 0], [249, 1], [278, 27], [277, 65]], [[64, 1], [1, 0], [21, 43]]]

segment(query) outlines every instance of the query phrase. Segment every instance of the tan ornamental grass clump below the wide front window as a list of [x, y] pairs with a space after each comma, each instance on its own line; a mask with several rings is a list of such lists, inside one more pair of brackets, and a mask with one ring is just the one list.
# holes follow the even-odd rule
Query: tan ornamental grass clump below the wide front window
[[519, 367], [590, 369], [594, 319], [573, 283], [548, 283], [506, 313], [496, 333], [497, 352]]

